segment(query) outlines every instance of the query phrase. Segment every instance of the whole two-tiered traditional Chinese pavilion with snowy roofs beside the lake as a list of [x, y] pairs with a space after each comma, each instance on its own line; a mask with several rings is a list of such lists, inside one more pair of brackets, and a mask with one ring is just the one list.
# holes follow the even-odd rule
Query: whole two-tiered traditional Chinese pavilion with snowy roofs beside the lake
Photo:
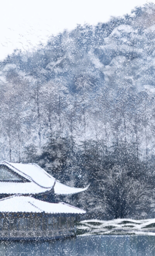
[[75, 235], [75, 221], [86, 212], [53, 198], [86, 189], [66, 186], [34, 163], [2, 161], [0, 239], [49, 240]]

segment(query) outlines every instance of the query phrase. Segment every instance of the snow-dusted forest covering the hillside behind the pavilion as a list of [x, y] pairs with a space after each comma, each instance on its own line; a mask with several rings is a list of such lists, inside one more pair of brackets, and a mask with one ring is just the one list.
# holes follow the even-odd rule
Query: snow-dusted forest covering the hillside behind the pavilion
[[[36, 162], [70, 186], [91, 183], [75, 198], [90, 214], [154, 216], [155, 5], [96, 26], [77, 25], [34, 52], [16, 49], [0, 62], [4, 159]], [[118, 176], [117, 185], [106, 186], [118, 170], [126, 181], [120, 186], [134, 189], [127, 187], [131, 198], [119, 216], [106, 201], [114, 200], [106, 191], [116, 191]], [[136, 203], [132, 193], [141, 195]]]

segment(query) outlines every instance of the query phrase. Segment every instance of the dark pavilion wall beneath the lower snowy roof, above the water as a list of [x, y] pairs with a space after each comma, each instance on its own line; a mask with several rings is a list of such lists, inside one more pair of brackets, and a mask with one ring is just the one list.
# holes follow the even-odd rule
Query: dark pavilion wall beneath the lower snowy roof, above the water
[[74, 216], [5, 214], [0, 216], [0, 239], [40, 239], [75, 235], [74, 221]]

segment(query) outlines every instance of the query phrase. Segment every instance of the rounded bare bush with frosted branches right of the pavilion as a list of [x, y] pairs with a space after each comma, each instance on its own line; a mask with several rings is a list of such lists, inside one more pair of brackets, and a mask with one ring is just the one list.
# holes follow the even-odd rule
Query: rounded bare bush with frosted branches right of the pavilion
[[90, 199], [100, 205], [102, 212], [115, 218], [123, 218], [144, 209], [151, 198], [151, 190], [145, 181], [134, 179], [127, 168], [114, 166], [100, 170], [96, 177], [95, 195]]

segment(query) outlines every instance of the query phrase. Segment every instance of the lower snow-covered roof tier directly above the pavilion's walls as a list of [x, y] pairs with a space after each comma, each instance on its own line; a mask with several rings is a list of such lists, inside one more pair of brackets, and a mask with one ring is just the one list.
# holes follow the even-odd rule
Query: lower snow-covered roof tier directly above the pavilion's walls
[[31, 196], [14, 195], [0, 200], [0, 212], [42, 212], [47, 214], [84, 214], [67, 203], [48, 203]]

